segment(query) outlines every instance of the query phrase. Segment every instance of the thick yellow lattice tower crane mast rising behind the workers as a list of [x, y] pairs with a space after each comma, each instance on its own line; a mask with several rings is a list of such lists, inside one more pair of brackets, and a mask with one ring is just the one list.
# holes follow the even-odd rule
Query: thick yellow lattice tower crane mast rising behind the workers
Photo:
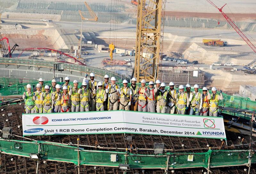
[[158, 76], [163, 49], [165, 1], [138, 0], [134, 65], [137, 81], [155, 81]]

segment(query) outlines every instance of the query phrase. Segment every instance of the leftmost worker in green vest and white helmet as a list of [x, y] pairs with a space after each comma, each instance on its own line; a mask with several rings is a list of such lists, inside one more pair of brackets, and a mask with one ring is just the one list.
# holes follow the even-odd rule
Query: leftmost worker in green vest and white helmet
[[33, 99], [33, 92], [31, 91], [31, 84], [27, 84], [27, 92], [23, 93], [22, 98], [25, 100], [26, 113], [34, 113], [35, 101]]

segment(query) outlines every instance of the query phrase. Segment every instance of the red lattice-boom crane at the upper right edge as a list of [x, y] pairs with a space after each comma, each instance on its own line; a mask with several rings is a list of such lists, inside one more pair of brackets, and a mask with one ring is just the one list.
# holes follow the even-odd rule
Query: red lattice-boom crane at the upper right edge
[[[236, 33], [238, 33], [241, 38], [247, 43], [247, 45], [249, 45], [249, 47], [252, 48], [252, 50], [256, 53], [256, 47], [252, 44], [252, 42], [244, 35], [244, 33], [236, 26], [235, 22], [228, 17], [228, 15], [226, 13], [224, 13], [222, 11], [222, 8], [227, 5], [224, 4], [221, 8], [217, 7], [212, 1], [210, 0], [206, 0], [207, 2], [209, 2], [210, 4], [212, 4], [212, 6], [214, 6], [215, 8], [217, 8], [220, 13], [224, 16], [224, 18], [228, 21], [228, 23], [236, 30]], [[255, 64], [256, 64], [256, 59], [253, 60], [252, 62], [250, 62], [248, 65], [246, 65], [245, 68], [249, 67], [250, 69], [255, 69]]]

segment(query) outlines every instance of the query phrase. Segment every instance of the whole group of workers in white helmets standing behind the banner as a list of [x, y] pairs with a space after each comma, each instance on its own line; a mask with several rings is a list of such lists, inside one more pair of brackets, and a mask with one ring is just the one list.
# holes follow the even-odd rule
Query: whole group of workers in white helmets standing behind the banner
[[[223, 99], [222, 92], [217, 94], [217, 89], [212, 87], [212, 94], [203, 87], [203, 94], [199, 85], [194, 85], [194, 91], [187, 84], [174, 89], [174, 83], [169, 83], [166, 90], [165, 83], [160, 80], [149, 82], [141, 80], [141, 86], [137, 85], [135, 77], [128, 86], [128, 81], [123, 80], [123, 87], [116, 84], [116, 78], [104, 76], [104, 82], [96, 82], [93, 73], [89, 75], [90, 80], [84, 78], [82, 85], [73, 81], [69, 84], [69, 77], [65, 77], [63, 85], [52, 80], [52, 86], [44, 86], [44, 80], [39, 79], [36, 88], [27, 85], [24, 92], [26, 113], [51, 113], [51, 112], [87, 112], [104, 110], [126, 110], [157, 113], [177, 113], [189, 115], [217, 116], [219, 100]], [[33, 90], [32, 90], [33, 89]]]

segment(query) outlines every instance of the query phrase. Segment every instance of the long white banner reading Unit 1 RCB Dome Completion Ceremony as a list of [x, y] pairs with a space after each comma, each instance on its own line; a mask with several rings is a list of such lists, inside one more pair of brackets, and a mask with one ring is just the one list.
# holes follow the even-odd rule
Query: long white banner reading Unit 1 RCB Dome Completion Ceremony
[[133, 111], [22, 115], [23, 136], [70, 134], [151, 134], [226, 139], [222, 117]]

